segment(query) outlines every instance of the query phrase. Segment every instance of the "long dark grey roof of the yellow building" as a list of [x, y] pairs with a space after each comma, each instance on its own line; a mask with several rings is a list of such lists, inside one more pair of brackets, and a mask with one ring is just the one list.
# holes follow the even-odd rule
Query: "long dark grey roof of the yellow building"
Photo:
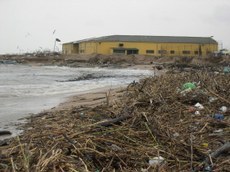
[[156, 43], [198, 43], [217, 44], [212, 37], [186, 37], [186, 36], [142, 36], [142, 35], [111, 35], [75, 41], [80, 42], [156, 42]]

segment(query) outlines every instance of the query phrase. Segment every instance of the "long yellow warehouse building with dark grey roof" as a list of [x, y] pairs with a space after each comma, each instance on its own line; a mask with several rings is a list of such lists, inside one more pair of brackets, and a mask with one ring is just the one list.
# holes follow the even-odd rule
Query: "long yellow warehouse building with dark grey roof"
[[218, 50], [212, 37], [111, 35], [65, 43], [63, 54], [207, 56]]

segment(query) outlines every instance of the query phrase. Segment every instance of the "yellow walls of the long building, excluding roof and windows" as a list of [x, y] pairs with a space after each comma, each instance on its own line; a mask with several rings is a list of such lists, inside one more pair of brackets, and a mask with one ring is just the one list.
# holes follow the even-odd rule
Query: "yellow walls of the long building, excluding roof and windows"
[[[138, 42], [81, 42], [79, 43], [80, 54], [105, 54], [113, 53], [113, 48], [119, 48], [122, 43], [122, 48], [136, 48], [138, 54], [152, 56], [206, 56], [208, 53], [217, 51], [217, 44], [188, 44], [188, 43], [138, 43]], [[63, 52], [77, 52], [69, 44], [64, 44]], [[71, 49], [72, 48], [72, 49]], [[71, 50], [69, 50], [71, 49]], [[67, 51], [66, 51], [67, 50]], [[154, 50], [153, 54], [146, 53], [146, 50]], [[159, 50], [166, 50], [166, 53], [161, 54]], [[202, 54], [200, 54], [201, 50]], [[174, 51], [174, 54], [170, 53]], [[183, 51], [190, 51], [190, 54], [183, 54]], [[196, 53], [195, 53], [196, 51]]]

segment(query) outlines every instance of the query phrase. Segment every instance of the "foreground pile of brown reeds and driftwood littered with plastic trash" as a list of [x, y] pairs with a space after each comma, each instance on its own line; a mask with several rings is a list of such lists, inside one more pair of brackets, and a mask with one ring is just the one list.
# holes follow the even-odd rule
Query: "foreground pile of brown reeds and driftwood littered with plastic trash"
[[133, 82], [119, 101], [31, 118], [1, 171], [228, 171], [230, 75]]

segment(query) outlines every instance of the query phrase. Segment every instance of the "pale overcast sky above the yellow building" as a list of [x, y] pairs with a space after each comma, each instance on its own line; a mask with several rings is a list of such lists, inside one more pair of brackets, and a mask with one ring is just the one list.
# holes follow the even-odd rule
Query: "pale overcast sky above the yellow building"
[[0, 54], [113, 34], [214, 36], [230, 49], [230, 0], [0, 0]]

